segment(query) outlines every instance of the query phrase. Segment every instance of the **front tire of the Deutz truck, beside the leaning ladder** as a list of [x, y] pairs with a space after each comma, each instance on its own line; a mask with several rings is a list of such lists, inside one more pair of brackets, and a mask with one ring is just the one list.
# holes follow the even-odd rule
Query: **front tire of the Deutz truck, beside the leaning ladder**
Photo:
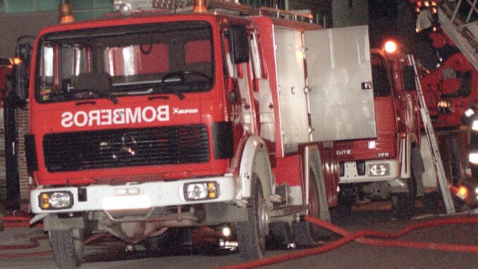
[[417, 180], [412, 174], [408, 179], [408, 192], [392, 195], [393, 216], [399, 219], [410, 219], [415, 214], [415, 197], [417, 196]]

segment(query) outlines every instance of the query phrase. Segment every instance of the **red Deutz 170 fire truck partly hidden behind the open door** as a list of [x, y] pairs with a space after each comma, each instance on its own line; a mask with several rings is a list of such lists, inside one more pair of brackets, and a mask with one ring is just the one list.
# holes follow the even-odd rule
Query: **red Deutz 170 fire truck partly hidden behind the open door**
[[[422, 157], [413, 73], [398, 45], [386, 42], [372, 49], [376, 138], [339, 141], [340, 209], [350, 212], [353, 203], [392, 198], [397, 217], [410, 217], [417, 188], [422, 192]], [[420, 193], [421, 194], [421, 193]]]

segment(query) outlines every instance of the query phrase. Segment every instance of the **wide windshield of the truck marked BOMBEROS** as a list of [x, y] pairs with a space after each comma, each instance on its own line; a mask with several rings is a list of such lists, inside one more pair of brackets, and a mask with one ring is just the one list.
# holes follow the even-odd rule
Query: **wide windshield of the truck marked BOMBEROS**
[[63, 102], [204, 92], [214, 82], [211, 26], [157, 23], [55, 32], [39, 45], [35, 98]]

